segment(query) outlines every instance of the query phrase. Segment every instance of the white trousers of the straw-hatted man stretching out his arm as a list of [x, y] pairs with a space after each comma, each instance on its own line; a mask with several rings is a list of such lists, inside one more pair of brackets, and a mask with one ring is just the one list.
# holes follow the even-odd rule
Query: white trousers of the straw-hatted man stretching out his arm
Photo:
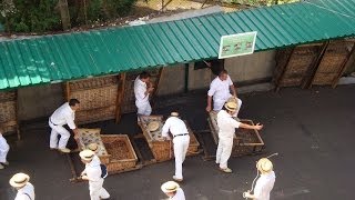
[[220, 168], [227, 168], [227, 161], [231, 157], [233, 148], [233, 138], [220, 138], [219, 148], [215, 156], [215, 162], [220, 163]]

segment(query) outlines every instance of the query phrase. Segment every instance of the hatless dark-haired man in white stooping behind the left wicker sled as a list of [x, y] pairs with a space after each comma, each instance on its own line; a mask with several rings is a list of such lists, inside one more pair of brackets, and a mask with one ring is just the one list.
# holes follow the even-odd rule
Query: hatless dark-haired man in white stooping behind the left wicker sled
[[[64, 124], [68, 124], [69, 128], [77, 136], [78, 130], [74, 123], [75, 111], [79, 109], [79, 100], [70, 99], [69, 102], [65, 102], [59, 107], [52, 116], [49, 118], [49, 126], [52, 128], [51, 138], [50, 138], [50, 148], [58, 149], [61, 152], [69, 153], [70, 149], [67, 148], [68, 140], [70, 138], [70, 132], [63, 128]], [[60, 140], [58, 142], [58, 134], [60, 134]]]

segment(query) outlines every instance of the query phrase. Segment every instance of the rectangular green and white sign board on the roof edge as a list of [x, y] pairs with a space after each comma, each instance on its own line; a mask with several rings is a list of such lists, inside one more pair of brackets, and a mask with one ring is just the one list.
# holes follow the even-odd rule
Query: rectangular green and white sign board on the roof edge
[[254, 52], [256, 31], [222, 36], [219, 59], [252, 54]]

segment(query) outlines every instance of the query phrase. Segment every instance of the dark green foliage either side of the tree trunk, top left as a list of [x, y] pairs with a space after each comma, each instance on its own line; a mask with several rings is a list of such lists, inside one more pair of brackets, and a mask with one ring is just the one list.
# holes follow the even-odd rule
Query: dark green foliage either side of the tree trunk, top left
[[[68, 0], [71, 27], [128, 14], [136, 0]], [[62, 30], [59, 0], [1, 0], [0, 23], [8, 32]]]

